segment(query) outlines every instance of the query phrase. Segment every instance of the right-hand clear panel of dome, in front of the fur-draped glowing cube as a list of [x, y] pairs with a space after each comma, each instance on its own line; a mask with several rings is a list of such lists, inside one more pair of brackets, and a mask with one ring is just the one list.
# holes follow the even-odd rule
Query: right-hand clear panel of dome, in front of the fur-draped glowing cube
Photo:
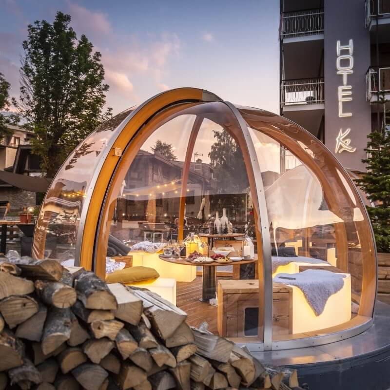
[[[265, 188], [273, 339], [308, 337], [365, 310], [370, 313], [362, 283], [363, 265], [375, 267], [372, 235], [348, 176], [329, 151], [292, 123], [280, 117], [277, 123], [275, 115], [258, 110], [240, 112]], [[366, 291], [375, 288], [375, 281], [367, 279]]]

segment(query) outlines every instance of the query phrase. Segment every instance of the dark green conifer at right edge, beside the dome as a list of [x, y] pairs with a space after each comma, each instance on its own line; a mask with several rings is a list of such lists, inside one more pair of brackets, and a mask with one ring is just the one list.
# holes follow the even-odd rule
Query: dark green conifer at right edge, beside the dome
[[362, 160], [367, 173], [356, 179], [376, 207], [367, 206], [378, 252], [390, 252], [390, 131], [387, 129], [389, 115], [385, 95], [380, 102], [384, 108], [382, 128], [369, 134], [368, 157]]

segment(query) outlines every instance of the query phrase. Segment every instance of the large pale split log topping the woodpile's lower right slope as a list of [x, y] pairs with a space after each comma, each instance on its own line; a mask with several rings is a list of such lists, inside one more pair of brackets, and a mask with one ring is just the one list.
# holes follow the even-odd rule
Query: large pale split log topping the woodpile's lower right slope
[[197, 353], [199, 355], [222, 363], [228, 362], [230, 353], [234, 347], [231, 341], [215, 336], [207, 331], [200, 331], [195, 328], [192, 328], [192, 330], [195, 337], [194, 344], [198, 349]]

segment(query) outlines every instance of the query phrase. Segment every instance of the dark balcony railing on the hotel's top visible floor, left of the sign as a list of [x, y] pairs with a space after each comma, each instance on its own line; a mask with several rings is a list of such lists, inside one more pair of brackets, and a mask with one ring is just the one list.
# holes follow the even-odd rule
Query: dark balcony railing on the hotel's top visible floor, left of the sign
[[279, 39], [303, 37], [324, 32], [324, 10], [282, 12], [280, 14]]

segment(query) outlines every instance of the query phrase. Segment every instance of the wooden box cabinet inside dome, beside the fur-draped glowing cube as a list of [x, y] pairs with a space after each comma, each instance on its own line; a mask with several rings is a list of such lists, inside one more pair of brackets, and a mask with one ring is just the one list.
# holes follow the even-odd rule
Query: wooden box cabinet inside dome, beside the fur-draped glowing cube
[[[245, 315], [259, 307], [258, 280], [218, 281], [217, 327], [222, 337], [249, 337]], [[292, 333], [292, 288], [273, 284], [273, 336]], [[256, 337], [256, 336], [254, 336]]]

